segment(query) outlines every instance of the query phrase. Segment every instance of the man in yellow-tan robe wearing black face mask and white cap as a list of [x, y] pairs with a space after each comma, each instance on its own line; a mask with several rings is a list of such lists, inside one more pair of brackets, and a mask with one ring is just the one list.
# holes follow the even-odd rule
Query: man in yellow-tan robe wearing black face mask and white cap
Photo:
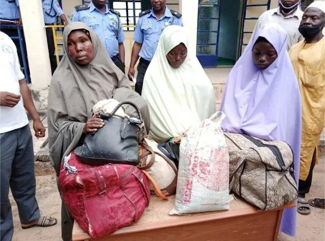
[[318, 162], [317, 147], [325, 124], [324, 18], [325, 2], [313, 2], [306, 9], [299, 27], [305, 41], [289, 51], [299, 82], [303, 110], [298, 198], [298, 212], [301, 214], [310, 213], [310, 206], [304, 198]]

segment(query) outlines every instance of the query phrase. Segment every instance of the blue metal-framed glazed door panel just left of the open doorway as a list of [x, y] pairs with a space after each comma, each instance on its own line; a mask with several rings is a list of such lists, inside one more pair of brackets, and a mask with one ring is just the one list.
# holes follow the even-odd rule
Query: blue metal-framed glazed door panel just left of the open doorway
[[[218, 44], [219, 44], [219, 30], [220, 30], [220, 12], [221, 12], [221, 0], [217, 0], [217, 1], [210, 1], [209, 2], [209, 7], [207, 8], [219, 8], [218, 10], [218, 15], [217, 17], [201, 17], [200, 16], [200, 8], [204, 7], [204, 6], [200, 6], [200, 0], [199, 1], [199, 9], [198, 9], [198, 34], [197, 34], [197, 57], [201, 63], [201, 65], [203, 67], [206, 68], [214, 68], [217, 66], [217, 59], [218, 59]], [[217, 25], [217, 29], [215, 30], [202, 30], [200, 29], [200, 20], [210, 20], [212, 21], [218, 21], [218, 25]], [[214, 43], [209, 43], [209, 41], [207, 43], [202, 43], [200, 42], [200, 35], [206, 33], [208, 34], [216, 34], [216, 39]], [[202, 36], [202, 35], [201, 35]], [[203, 54], [203, 52], [206, 49], [209, 48], [214, 48], [215, 47], [215, 51], [212, 51], [212, 53], [208, 53], [208, 54]]]

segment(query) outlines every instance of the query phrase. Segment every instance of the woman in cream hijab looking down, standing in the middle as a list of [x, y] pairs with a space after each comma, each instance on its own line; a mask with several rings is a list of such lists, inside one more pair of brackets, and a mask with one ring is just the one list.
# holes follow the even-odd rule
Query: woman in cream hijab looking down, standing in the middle
[[144, 77], [142, 97], [149, 106], [150, 134], [161, 142], [216, 111], [213, 86], [187, 48], [185, 28], [167, 27]]

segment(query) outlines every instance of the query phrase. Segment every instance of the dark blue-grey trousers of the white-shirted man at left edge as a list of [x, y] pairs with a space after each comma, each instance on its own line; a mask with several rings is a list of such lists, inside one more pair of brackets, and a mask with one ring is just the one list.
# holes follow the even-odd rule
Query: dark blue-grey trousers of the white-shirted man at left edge
[[21, 224], [40, 218], [36, 200], [34, 149], [29, 125], [0, 134], [1, 149], [1, 241], [10, 241], [14, 233], [9, 187], [17, 203]]

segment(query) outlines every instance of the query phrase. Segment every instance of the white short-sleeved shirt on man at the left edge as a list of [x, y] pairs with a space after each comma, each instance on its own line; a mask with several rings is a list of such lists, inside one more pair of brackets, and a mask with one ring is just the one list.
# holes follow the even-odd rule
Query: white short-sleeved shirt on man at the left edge
[[[14, 42], [0, 31], [0, 91], [20, 95], [18, 81], [24, 77]], [[26, 125], [28, 118], [22, 97], [15, 107], [0, 106], [0, 133], [10, 132]]]

